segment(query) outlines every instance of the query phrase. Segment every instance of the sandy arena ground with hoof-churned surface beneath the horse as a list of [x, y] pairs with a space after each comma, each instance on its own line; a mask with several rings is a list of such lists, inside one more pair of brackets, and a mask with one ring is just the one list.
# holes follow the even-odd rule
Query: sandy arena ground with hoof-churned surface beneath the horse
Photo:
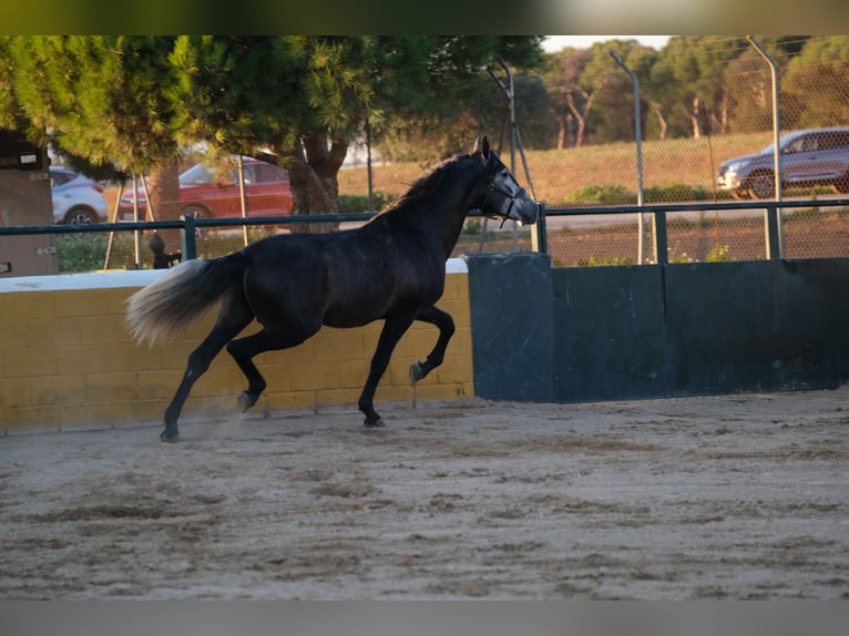
[[0, 598], [849, 598], [849, 387], [377, 406], [0, 438]]

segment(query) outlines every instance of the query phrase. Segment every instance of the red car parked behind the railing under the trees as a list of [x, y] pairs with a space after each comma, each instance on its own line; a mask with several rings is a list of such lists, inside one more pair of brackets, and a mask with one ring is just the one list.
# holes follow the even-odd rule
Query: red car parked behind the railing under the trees
[[[291, 214], [291, 187], [286, 171], [253, 157], [243, 157], [248, 216]], [[241, 217], [242, 195], [236, 158], [197, 163], [180, 177], [181, 214], [203, 217]], [[140, 218], [145, 211], [144, 191], [139, 189]], [[155, 211], [154, 211], [155, 212]], [[121, 197], [122, 220], [133, 219], [132, 192]]]

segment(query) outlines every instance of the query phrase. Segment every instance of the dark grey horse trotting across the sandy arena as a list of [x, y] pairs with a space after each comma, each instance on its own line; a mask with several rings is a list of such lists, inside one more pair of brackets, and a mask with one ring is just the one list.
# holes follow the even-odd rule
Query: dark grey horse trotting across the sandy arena
[[[275, 235], [227, 256], [168, 269], [127, 299], [126, 325], [137, 343], [153, 346], [216, 301], [221, 307], [212, 331], [188, 356], [160, 439], [180, 439], [177, 419], [192, 386], [225, 346], [247, 378], [237, 400], [244, 412], [266, 388], [255, 356], [295, 347], [325, 325], [360, 327], [380, 319], [385, 322], [358, 408], [366, 427], [383, 427], [374, 397], [401, 336], [416, 320], [439, 329], [433, 350], [410, 367], [415, 383], [442, 363], [454, 332], [451, 316], [434, 304], [467, 215], [478, 209], [488, 217], [533, 224], [540, 205], [483, 137], [472, 152], [428, 171], [358, 228]], [[254, 318], [262, 329], [235, 339]]]

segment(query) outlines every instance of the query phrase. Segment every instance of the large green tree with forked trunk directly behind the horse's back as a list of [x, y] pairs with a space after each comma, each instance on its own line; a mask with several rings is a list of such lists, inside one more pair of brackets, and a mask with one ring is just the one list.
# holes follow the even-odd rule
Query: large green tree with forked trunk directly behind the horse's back
[[[233, 151], [267, 147], [290, 175], [296, 214], [338, 209], [337, 174], [366, 122], [444, 122], [499, 58], [532, 64], [536, 37], [182, 37], [180, 121]], [[468, 142], [467, 142], [468, 143]]]

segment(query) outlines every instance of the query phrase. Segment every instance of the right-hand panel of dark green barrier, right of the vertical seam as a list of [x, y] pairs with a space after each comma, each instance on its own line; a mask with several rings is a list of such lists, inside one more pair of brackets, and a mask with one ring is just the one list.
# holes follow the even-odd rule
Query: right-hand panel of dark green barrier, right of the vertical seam
[[849, 260], [666, 268], [671, 393], [833, 388], [849, 378]]

